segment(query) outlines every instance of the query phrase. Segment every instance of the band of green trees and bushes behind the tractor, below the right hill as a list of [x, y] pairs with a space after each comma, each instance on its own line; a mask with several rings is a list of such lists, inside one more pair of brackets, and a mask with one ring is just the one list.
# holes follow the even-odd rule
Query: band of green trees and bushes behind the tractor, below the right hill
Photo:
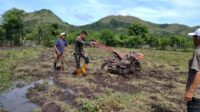
[[[110, 29], [103, 29], [100, 33], [90, 33], [89, 40], [97, 40], [114, 47], [153, 48], [159, 50], [188, 51], [193, 47], [192, 39], [182, 35], [156, 35], [141, 24], [132, 24], [127, 28], [127, 34], [114, 34]], [[71, 42], [71, 41], [70, 41]]]

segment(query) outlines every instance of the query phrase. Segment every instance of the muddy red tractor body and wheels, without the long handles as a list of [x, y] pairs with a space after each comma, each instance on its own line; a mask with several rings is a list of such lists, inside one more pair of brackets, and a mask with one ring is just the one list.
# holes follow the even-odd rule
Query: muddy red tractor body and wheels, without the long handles
[[132, 77], [138, 75], [141, 70], [140, 60], [143, 55], [140, 53], [130, 52], [125, 55], [122, 59], [113, 55], [104, 60], [101, 68], [106, 69], [110, 73], [123, 75], [126, 77]]

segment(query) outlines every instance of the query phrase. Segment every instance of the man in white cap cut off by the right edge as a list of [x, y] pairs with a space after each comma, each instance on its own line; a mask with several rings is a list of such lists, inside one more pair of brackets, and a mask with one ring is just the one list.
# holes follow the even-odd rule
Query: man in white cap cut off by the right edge
[[200, 112], [200, 28], [189, 35], [193, 36], [195, 50], [189, 61], [185, 100], [187, 112]]

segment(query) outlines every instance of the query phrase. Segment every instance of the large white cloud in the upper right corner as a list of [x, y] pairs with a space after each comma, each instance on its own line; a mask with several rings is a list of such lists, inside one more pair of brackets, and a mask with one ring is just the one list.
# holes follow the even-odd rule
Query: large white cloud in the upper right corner
[[122, 7], [114, 15], [131, 15], [154, 23], [180, 23], [200, 25], [198, 0], [137, 0], [140, 5]]

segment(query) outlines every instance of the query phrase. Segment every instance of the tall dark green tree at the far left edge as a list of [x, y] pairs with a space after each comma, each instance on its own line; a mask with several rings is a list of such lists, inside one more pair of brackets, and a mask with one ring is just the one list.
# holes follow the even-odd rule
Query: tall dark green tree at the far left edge
[[23, 38], [23, 21], [25, 12], [20, 9], [12, 8], [3, 14], [3, 29], [5, 29], [6, 40], [12, 45], [20, 45]]

